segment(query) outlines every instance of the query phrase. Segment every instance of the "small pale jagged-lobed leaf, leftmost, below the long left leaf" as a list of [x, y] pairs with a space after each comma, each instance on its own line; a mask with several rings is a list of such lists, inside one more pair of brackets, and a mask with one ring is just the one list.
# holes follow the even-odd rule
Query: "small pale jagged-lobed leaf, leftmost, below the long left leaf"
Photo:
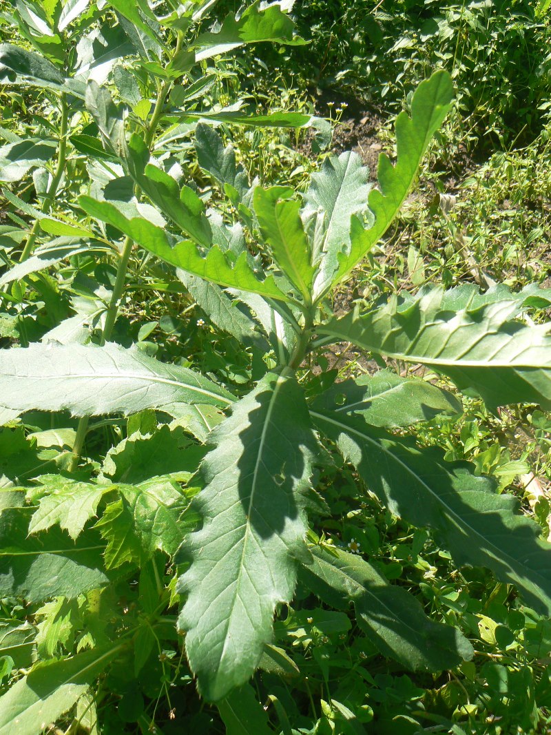
[[29, 490], [27, 496], [38, 500], [38, 509], [29, 523], [29, 534], [46, 531], [59, 524], [72, 539], [76, 539], [84, 526], [98, 511], [104, 493], [114, 490], [115, 485], [97, 485], [79, 482], [59, 475], [43, 475], [38, 478], [39, 487]]

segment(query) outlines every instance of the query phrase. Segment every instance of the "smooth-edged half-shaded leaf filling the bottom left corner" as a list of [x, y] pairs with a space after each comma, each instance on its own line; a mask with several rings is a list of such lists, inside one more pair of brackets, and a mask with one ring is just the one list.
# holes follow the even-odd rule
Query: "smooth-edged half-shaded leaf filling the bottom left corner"
[[71, 659], [39, 664], [0, 697], [0, 735], [37, 735], [55, 723], [122, 649], [123, 644], [111, 643]]

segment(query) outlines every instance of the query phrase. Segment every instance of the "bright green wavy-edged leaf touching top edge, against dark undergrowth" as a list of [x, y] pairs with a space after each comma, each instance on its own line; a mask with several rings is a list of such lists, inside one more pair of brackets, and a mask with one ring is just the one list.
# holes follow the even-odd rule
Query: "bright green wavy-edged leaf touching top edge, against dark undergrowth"
[[294, 35], [295, 24], [281, 12], [277, 4], [262, 7], [260, 0], [253, 2], [237, 19], [230, 13], [216, 33], [202, 33], [193, 42], [195, 60], [210, 59], [218, 54], [237, 49], [246, 43], [272, 41], [300, 46], [302, 38]]

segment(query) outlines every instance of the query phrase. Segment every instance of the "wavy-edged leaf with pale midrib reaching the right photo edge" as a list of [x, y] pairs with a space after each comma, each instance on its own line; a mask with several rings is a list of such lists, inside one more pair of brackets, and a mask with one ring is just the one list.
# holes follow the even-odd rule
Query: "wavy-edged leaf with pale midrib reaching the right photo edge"
[[474, 309], [446, 308], [442, 288], [366, 314], [352, 312], [320, 334], [406, 362], [430, 365], [461, 390], [474, 389], [491, 408], [525, 401], [551, 407], [551, 337], [548, 324], [510, 319], [519, 301], [491, 301]]

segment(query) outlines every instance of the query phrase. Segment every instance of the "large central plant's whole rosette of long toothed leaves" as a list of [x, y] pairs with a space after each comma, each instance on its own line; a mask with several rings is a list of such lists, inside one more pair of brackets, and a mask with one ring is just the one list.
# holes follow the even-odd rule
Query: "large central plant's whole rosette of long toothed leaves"
[[[115, 345], [33, 345], [0, 353], [0, 405], [7, 416], [56, 408], [74, 415], [170, 412], [170, 396], [177, 404], [210, 404], [219, 412], [229, 406], [228, 415], [204, 434], [206, 453], [196, 476], [201, 490], [184, 503], [189, 523], [180, 527], [176, 554], [183, 603], [178, 626], [187, 659], [201, 695], [219, 703], [228, 727], [244, 727], [240, 708], [250, 705], [250, 728], [253, 722], [261, 723], [256, 731], [267, 728], [245, 685], [298, 576], [327, 605], [352, 605], [359, 628], [378, 650], [406, 667], [437, 671], [472, 656], [455, 628], [428, 618], [372, 564], [309, 534], [309, 508], [323, 502], [314, 467], [326, 457], [327, 442], [394, 514], [431, 528], [455, 562], [489, 567], [516, 585], [530, 606], [550, 614], [551, 555], [538, 526], [519, 514], [511, 495], [498, 495], [490, 478], [475, 476], [472, 465], [445, 462], [439, 450], [420, 448], [403, 435], [414, 423], [461, 410], [453, 393], [386, 370], [338, 384], [328, 373], [307, 384], [309, 390], [299, 379], [304, 361], [315, 360], [323, 345], [348, 340], [372, 354], [428, 365], [459, 389], [478, 392], [490, 407], [551, 404], [548, 328], [528, 327], [519, 318], [531, 306], [549, 303], [545, 291], [496, 288], [480, 295], [474, 287], [448, 293], [436, 287], [343, 318], [320, 317], [325, 297], [377, 243], [405, 200], [452, 101], [447, 73], [422, 82], [411, 114], [398, 116], [397, 158], [392, 163], [381, 155], [378, 187], [369, 187], [358, 157], [346, 153], [328, 159], [302, 198], [287, 187], [251, 190], [231, 148], [199, 126], [199, 163], [231, 199], [260, 257], [251, 254], [240, 223], [229, 225], [207, 212], [190, 187], [151, 164], [143, 137], [126, 140], [122, 121], [109, 118], [104, 92], [89, 85], [87, 96], [96, 100], [112, 154], [170, 224], [159, 226], [91, 196], [79, 199], [82, 209], [175, 267], [215, 327], [251, 351], [270, 350], [272, 367], [237, 397], [205, 376], [154, 365]], [[70, 388], [60, 395], [65, 383]], [[132, 463], [120, 460], [120, 466]], [[109, 501], [97, 524], [101, 534], [109, 534], [109, 524], [116, 527], [122, 516], [137, 538], [137, 551], [120, 564], [148, 562], [154, 548], [140, 539], [144, 526], [151, 530], [156, 510], [146, 503], [140, 515], [136, 493], [123, 478], [113, 483], [100, 486], [105, 495], [94, 496], [98, 504], [90, 500], [87, 512]], [[147, 489], [152, 492], [149, 484]], [[170, 488], [165, 490], [165, 509], [179, 509]], [[46, 509], [38, 512], [44, 515], [54, 497], [40, 497]], [[46, 516], [51, 525], [60, 523], [57, 506]], [[150, 520], [140, 523], [143, 517]], [[41, 532], [46, 528], [42, 517], [39, 523], [32, 515], [30, 523]], [[165, 547], [171, 554], [173, 539], [171, 531]]]

